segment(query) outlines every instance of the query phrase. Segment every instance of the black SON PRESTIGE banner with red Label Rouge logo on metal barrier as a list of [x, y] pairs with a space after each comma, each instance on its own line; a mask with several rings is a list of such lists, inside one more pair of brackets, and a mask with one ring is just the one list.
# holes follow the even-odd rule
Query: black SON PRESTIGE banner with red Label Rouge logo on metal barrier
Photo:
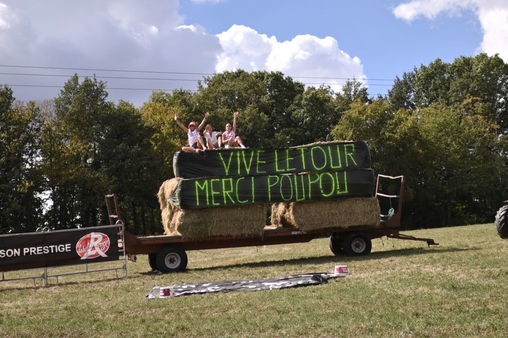
[[0, 272], [118, 258], [117, 226], [0, 236]]

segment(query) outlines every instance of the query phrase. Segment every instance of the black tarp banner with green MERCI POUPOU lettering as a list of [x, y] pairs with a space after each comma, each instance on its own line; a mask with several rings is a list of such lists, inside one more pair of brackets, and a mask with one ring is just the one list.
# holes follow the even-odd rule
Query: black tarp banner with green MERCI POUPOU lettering
[[371, 169], [293, 175], [184, 179], [171, 203], [181, 209], [371, 197]]

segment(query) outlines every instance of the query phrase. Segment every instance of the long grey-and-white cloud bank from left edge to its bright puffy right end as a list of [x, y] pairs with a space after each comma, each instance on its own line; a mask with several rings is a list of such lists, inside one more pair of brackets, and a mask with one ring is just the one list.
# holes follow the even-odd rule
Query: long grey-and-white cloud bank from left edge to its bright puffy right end
[[[297, 77], [365, 78], [360, 59], [340, 50], [332, 37], [298, 35], [278, 42], [275, 36], [242, 25], [213, 35], [199, 24], [186, 23], [179, 8], [178, 0], [0, 0], [0, 64], [189, 73], [279, 70], [316, 86], [344, 80]], [[50, 99], [75, 71], [106, 81], [109, 99], [136, 105], [151, 91], [134, 89], [196, 89], [202, 79], [190, 74], [0, 67], [4, 73], [62, 76], [0, 74], [0, 85], [11, 85], [20, 100]], [[171, 80], [114, 79], [118, 77]]]

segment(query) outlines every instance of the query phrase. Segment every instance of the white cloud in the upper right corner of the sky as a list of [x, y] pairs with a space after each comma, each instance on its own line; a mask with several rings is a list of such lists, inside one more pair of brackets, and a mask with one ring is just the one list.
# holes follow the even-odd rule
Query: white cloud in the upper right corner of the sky
[[499, 53], [508, 62], [508, 2], [506, 0], [420, 0], [397, 6], [393, 13], [408, 22], [420, 15], [434, 19], [440, 13], [456, 15], [462, 10], [472, 10], [478, 15], [483, 29], [480, 50], [494, 55]]

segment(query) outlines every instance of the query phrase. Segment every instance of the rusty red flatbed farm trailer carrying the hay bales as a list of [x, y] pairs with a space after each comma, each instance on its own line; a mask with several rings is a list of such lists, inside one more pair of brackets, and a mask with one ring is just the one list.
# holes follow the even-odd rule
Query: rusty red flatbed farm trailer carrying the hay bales
[[[386, 195], [379, 192], [379, 178], [400, 179], [399, 195]], [[162, 273], [178, 272], [185, 270], [187, 266], [187, 254], [185, 251], [221, 249], [246, 246], [262, 246], [290, 243], [307, 243], [323, 234], [330, 234], [330, 250], [336, 254], [360, 256], [369, 254], [372, 249], [372, 239], [388, 237], [403, 240], [423, 241], [430, 245], [438, 245], [433, 239], [418, 238], [403, 235], [397, 230], [400, 226], [402, 198], [404, 191], [404, 176], [378, 175], [376, 183], [376, 198], [398, 198], [397, 211], [391, 217], [380, 215], [379, 226], [335, 228], [302, 232], [297, 229], [265, 229], [261, 237], [213, 237], [202, 239], [186, 239], [181, 236], [134, 236], [128, 231], [124, 232], [125, 252], [136, 260], [135, 255], [148, 254], [148, 262], [153, 270]], [[112, 214], [112, 206], [109, 198], [114, 197], [116, 215]], [[118, 200], [116, 195], [106, 196], [110, 221], [120, 218]]]

